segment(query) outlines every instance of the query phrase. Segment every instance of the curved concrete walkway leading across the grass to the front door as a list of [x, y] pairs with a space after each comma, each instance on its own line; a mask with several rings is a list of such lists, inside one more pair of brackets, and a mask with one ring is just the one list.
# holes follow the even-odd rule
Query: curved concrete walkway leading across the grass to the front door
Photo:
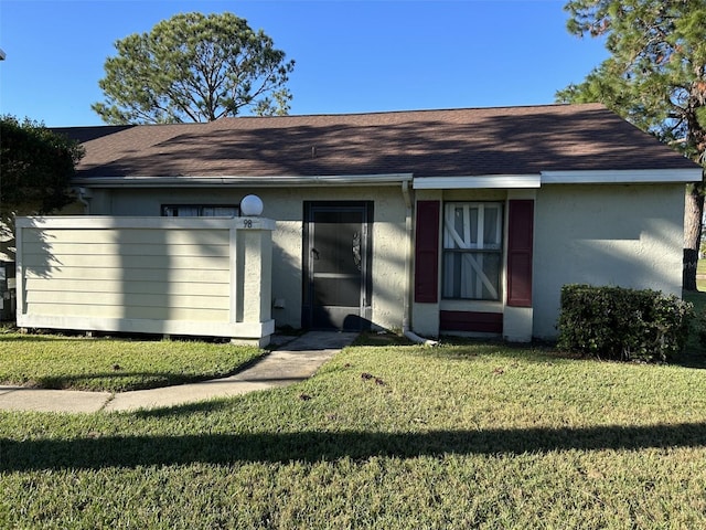
[[[133, 392], [79, 392], [0, 386], [0, 410], [78, 412], [136, 411], [181, 405], [303, 381], [325, 361], [349, 346], [357, 333], [310, 331], [286, 341], [248, 369], [229, 378]], [[292, 339], [287, 341], [287, 339]]]

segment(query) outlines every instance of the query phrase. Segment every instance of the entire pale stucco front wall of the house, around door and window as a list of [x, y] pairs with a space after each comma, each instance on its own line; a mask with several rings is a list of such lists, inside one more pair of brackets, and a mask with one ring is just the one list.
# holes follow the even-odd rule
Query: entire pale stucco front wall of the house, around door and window
[[[277, 222], [272, 234], [271, 298], [284, 301], [285, 306], [272, 308], [278, 326], [299, 328], [301, 325], [303, 201], [373, 200], [372, 320], [386, 328], [402, 327], [406, 306], [406, 209], [398, 187], [92, 190], [90, 204], [94, 214], [160, 215], [162, 204], [237, 205], [249, 193], [263, 199], [263, 215]], [[517, 329], [531, 326], [535, 337], [556, 336], [559, 292], [566, 283], [681, 294], [683, 184], [544, 184], [537, 190], [524, 191], [417, 190], [414, 195], [415, 200], [440, 201], [536, 197], [534, 310], [530, 316], [526, 310], [507, 316], [507, 322], [516, 321]], [[505, 286], [504, 278], [502, 285]], [[439, 310], [443, 309], [503, 311], [505, 308], [503, 301], [411, 303], [411, 328], [419, 335], [436, 336]], [[528, 318], [531, 325], [527, 325]]]

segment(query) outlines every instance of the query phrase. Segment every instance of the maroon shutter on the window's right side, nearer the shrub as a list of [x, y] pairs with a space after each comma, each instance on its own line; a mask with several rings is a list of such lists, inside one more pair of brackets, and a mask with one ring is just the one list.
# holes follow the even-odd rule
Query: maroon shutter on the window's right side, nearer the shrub
[[510, 201], [507, 305], [532, 307], [532, 237], [534, 201]]

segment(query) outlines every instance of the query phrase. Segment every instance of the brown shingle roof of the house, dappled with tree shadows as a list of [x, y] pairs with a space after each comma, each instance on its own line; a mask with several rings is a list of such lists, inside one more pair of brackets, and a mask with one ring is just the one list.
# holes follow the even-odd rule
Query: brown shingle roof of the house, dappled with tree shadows
[[94, 135], [81, 178], [696, 168], [597, 104], [240, 117]]

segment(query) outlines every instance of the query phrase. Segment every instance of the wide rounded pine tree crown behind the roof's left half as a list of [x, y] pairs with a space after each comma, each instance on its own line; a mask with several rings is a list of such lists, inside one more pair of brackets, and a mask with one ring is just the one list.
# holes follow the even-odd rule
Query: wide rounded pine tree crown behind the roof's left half
[[295, 62], [233, 13], [181, 13], [115, 44], [92, 108], [108, 124], [213, 121], [289, 110]]

